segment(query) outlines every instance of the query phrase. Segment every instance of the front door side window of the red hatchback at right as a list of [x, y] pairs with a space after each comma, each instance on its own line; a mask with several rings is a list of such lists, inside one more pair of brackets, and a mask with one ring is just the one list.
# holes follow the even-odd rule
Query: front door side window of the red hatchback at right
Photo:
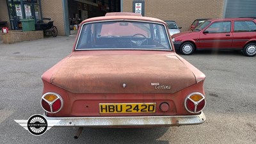
[[229, 33], [231, 28], [231, 22], [214, 22], [205, 31], [209, 33]]

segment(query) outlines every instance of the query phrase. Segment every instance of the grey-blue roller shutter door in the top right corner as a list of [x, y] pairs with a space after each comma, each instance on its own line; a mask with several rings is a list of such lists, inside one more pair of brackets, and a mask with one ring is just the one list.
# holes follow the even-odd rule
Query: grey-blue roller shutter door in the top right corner
[[226, 0], [225, 17], [256, 17], [256, 0]]

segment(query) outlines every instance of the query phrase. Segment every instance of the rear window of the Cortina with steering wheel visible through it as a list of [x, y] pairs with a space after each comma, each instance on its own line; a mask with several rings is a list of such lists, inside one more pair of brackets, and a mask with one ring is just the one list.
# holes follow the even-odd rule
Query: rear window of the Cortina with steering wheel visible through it
[[164, 24], [127, 20], [83, 24], [76, 50], [88, 49], [172, 50]]

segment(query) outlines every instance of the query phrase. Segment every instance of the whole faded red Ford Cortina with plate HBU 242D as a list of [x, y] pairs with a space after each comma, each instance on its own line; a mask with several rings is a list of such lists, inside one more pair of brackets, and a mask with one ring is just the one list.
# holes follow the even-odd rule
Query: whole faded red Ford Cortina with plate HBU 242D
[[41, 106], [57, 127], [202, 124], [204, 79], [163, 20], [106, 13], [81, 22], [72, 52], [42, 75]]

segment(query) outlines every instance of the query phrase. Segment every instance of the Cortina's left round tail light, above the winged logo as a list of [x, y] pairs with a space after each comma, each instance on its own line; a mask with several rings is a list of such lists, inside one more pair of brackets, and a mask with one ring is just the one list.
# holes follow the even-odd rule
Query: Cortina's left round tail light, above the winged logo
[[58, 113], [63, 107], [63, 99], [57, 93], [45, 93], [41, 99], [41, 106], [47, 113]]

